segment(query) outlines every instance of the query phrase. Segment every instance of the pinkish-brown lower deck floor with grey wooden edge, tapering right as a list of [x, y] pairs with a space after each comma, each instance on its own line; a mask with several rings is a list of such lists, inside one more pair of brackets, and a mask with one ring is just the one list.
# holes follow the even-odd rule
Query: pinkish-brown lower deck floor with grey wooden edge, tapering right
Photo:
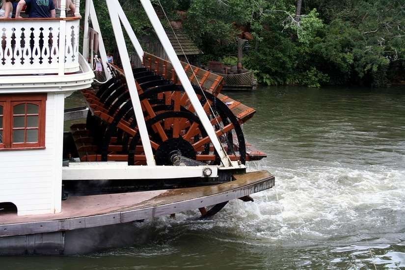
[[216, 186], [70, 197], [58, 214], [0, 215], [0, 237], [97, 227], [170, 215], [240, 198], [274, 186], [268, 171], [235, 175]]

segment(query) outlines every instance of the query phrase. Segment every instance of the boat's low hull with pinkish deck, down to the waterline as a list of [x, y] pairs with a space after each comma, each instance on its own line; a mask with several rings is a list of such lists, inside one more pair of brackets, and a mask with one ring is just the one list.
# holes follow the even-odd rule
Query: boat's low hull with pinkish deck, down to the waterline
[[[96, 241], [100, 239], [97, 235], [111, 235], [106, 234], [109, 230], [125, 234], [134, 227], [134, 221], [216, 205], [274, 186], [274, 176], [268, 171], [237, 174], [233, 178], [234, 181], [214, 186], [70, 197], [63, 201], [62, 212], [54, 215], [5, 214], [0, 216], [0, 254], [91, 252], [106, 246], [91, 241], [82, 243], [82, 235], [91, 232]], [[127, 237], [117, 239], [125, 241], [115, 243], [111, 238], [111, 246], [131, 241]]]

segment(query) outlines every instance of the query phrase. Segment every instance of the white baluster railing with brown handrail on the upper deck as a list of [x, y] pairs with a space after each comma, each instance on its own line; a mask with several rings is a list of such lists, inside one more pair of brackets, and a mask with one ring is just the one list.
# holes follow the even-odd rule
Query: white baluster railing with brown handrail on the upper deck
[[79, 23], [80, 17], [1, 20], [0, 75], [79, 71]]

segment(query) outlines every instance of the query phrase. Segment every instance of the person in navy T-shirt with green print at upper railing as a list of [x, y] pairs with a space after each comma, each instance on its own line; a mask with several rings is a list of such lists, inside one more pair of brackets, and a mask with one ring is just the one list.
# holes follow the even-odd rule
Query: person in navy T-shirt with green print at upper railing
[[20, 0], [17, 5], [16, 18], [22, 18], [20, 13], [25, 4], [29, 18], [55, 18], [55, 5], [52, 0]]

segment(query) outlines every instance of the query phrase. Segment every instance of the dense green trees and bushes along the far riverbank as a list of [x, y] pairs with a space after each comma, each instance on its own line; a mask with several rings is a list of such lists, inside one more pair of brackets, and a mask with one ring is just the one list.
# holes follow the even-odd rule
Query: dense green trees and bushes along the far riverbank
[[[101, 2], [95, 1], [98, 10], [103, 8]], [[121, 2], [137, 34], [150, 28], [138, 1]], [[152, 2], [160, 9], [158, 0]], [[247, 36], [243, 65], [264, 84], [386, 86], [405, 81], [403, 0], [161, 0], [161, 4], [170, 21], [180, 23], [204, 52], [201, 63], [232, 60], [237, 38]], [[164, 16], [162, 22], [168, 26]], [[106, 36], [105, 40], [113, 49], [114, 40]]]

